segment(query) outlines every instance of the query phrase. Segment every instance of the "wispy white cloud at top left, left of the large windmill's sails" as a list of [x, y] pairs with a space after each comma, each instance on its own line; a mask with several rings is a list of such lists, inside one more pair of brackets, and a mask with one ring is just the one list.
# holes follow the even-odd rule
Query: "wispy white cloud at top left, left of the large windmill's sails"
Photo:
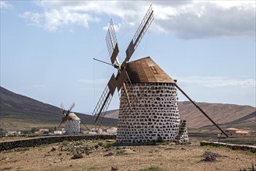
[[[50, 32], [61, 30], [64, 26], [79, 25], [88, 28], [88, 22], [98, 22], [100, 19], [86, 13], [86, 9], [79, 9], [79, 4], [59, 1], [36, 2], [44, 12], [23, 12], [21, 18], [31, 25], [43, 27]], [[74, 3], [75, 4], [75, 3]], [[70, 29], [69, 29], [70, 30]]]

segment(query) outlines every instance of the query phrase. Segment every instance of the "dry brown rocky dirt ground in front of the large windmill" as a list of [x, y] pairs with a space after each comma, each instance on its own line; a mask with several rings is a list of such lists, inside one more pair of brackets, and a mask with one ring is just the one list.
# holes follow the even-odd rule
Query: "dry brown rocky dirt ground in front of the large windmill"
[[[202, 147], [198, 141], [192, 141], [191, 145], [113, 147], [111, 144], [111, 141], [64, 141], [3, 151], [0, 170], [240, 170], [256, 164], [254, 153]], [[204, 152], [216, 153], [216, 161], [204, 161]]]

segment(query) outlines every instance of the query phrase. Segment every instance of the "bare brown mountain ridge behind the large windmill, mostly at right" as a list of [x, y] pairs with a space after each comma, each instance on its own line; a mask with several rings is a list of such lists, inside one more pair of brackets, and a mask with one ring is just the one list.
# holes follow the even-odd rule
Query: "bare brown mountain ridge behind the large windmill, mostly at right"
[[[253, 106], [239, 106], [235, 104], [222, 103], [197, 103], [202, 107], [209, 117], [217, 124], [226, 126], [240, 127], [256, 127], [256, 108]], [[191, 102], [179, 102], [179, 113], [181, 120], [187, 120], [188, 127], [206, 127], [212, 125], [209, 121]], [[110, 110], [106, 113], [106, 117], [118, 117], [118, 110]]]

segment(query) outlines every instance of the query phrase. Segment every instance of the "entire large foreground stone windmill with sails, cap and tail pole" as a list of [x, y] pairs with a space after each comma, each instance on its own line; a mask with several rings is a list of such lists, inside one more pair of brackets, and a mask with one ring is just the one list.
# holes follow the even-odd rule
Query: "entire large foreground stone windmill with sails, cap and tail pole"
[[[129, 62], [152, 21], [153, 9], [150, 5], [125, 51], [126, 58], [122, 63], [117, 60], [119, 50], [112, 20], [107, 31], [106, 42], [110, 54], [110, 65], [117, 68], [117, 75], [111, 76], [93, 110], [93, 115], [96, 125], [100, 127], [114, 91], [117, 89], [120, 99], [117, 143], [144, 143], [158, 140], [188, 142], [186, 121], [180, 120], [177, 106], [177, 89], [180, 88], [176, 81], [150, 57]], [[184, 93], [182, 90], [181, 92]], [[184, 95], [187, 96], [185, 93]], [[192, 100], [191, 102], [194, 103]], [[204, 114], [208, 117], [206, 113]], [[209, 120], [214, 123], [211, 118]], [[216, 126], [220, 129], [218, 125]]]

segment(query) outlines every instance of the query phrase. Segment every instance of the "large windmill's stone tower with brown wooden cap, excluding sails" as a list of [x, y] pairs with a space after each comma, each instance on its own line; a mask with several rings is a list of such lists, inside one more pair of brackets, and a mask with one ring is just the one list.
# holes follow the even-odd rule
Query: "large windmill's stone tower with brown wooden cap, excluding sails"
[[[129, 62], [127, 72], [132, 82], [126, 86], [128, 97], [136, 100], [130, 110], [121, 92], [117, 142], [174, 141], [181, 130], [174, 79], [150, 57]], [[186, 133], [177, 141], [188, 142]]]

